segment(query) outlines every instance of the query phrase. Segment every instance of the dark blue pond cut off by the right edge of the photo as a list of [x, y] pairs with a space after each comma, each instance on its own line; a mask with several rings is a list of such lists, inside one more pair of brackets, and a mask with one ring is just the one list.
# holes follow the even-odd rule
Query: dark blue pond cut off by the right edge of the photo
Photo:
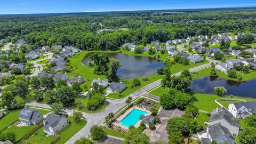
[[237, 82], [224, 78], [211, 79], [207, 76], [194, 79], [190, 88], [196, 93], [215, 94], [215, 86], [224, 86], [227, 89], [227, 95], [256, 98], [256, 78], [246, 82]]

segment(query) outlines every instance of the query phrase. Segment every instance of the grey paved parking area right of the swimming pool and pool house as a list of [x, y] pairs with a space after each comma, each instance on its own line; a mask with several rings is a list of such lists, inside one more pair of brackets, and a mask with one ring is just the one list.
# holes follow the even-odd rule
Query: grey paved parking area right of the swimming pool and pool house
[[167, 125], [167, 121], [168, 119], [170, 119], [171, 117], [175, 117], [175, 116], [181, 116], [184, 114], [184, 111], [181, 111], [179, 109], [171, 109], [171, 110], [164, 110], [161, 109], [158, 116], [162, 121], [162, 124], [158, 127], [158, 129], [155, 132], [150, 132], [150, 131], [146, 131], [145, 133], [149, 136], [150, 141], [165, 141], [168, 142], [168, 133], [165, 130], [166, 125]]

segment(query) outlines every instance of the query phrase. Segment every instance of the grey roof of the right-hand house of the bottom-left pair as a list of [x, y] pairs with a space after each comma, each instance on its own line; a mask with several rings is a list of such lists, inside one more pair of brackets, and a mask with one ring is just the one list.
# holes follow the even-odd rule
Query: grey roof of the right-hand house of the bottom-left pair
[[48, 114], [45, 119], [44, 129], [49, 130], [49, 127], [54, 127], [59, 124], [61, 119], [67, 119], [64, 115]]

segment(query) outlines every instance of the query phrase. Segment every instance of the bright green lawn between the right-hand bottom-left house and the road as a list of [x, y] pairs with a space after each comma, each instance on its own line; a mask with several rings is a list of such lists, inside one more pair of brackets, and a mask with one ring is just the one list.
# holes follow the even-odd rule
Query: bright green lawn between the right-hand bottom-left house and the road
[[75, 123], [73, 116], [68, 117], [68, 121], [70, 124], [58, 133], [60, 139], [56, 143], [65, 143], [87, 124], [85, 120]]

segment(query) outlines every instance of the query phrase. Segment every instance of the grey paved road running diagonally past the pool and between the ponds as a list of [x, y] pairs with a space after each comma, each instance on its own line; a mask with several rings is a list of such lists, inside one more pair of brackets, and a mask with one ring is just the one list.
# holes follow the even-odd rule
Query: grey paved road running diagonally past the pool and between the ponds
[[[196, 71], [196, 70], [206, 68], [209, 66], [210, 66], [210, 63], [206, 63], [201, 66], [190, 68], [189, 71]], [[174, 75], [179, 76], [180, 74], [181, 74], [181, 72], [176, 73]], [[138, 91], [131, 93], [129, 96], [132, 97], [133, 99], [135, 99], [135, 98], [141, 96], [142, 94], [145, 94], [147, 91], [153, 89], [154, 87], [159, 86], [160, 84], [161, 84], [161, 79], [159, 79], [153, 83], [150, 83], [150, 84], [146, 85], [145, 87], [142, 87]], [[109, 113], [115, 113], [116, 111], [118, 111], [119, 109], [123, 108], [126, 105], [125, 100], [126, 100], [126, 98], [121, 99], [121, 100], [107, 99], [108, 106], [106, 107], [106, 109], [100, 111], [99, 113], [93, 113], [93, 114], [83, 113], [83, 117], [85, 117], [87, 120], [87, 125], [81, 131], [77, 132], [66, 143], [75, 143], [76, 140], [78, 140], [82, 137], [88, 137], [90, 134], [90, 128], [93, 125], [102, 125], [105, 122], [105, 117]], [[36, 106], [36, 107], [45, 107], [45, 108], [50, 107], [48, 105], [41, 104], [41, 103], [27, 103], [26, 105]], [[73, 113], [73, 110], [67, 109], [66, 112], [70, 114], [70, 113]]]

